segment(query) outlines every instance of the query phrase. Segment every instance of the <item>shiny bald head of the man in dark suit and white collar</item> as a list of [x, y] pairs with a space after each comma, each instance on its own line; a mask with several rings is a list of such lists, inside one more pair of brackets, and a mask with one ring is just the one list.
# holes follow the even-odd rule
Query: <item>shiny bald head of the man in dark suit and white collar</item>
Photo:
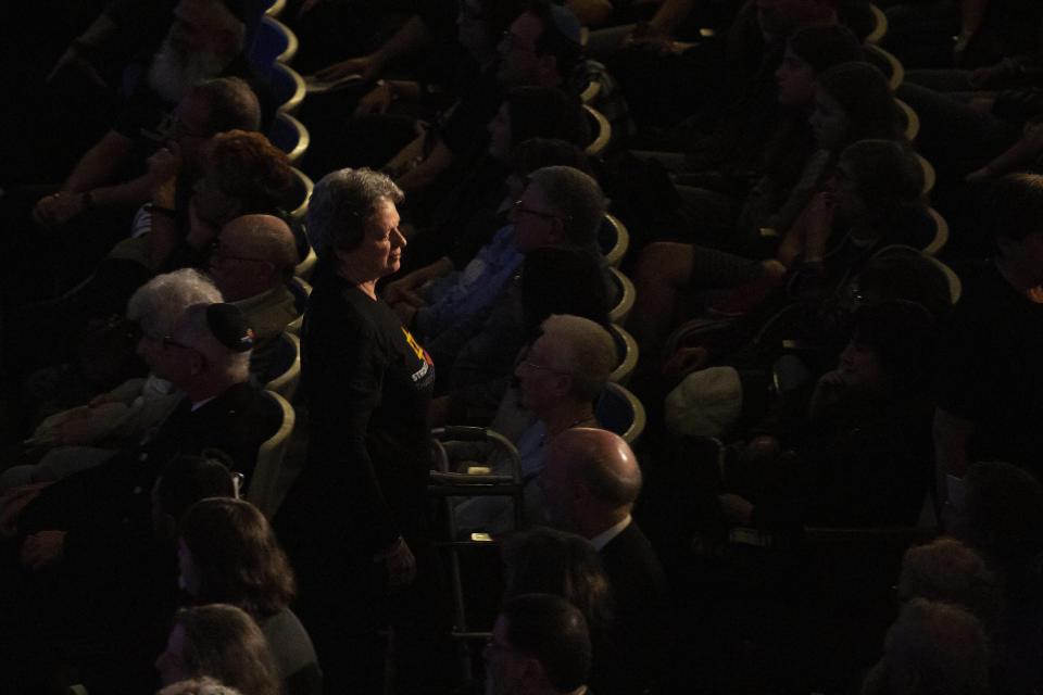
[[590, 538], [630, 513], [641, 492], [641, 468], [618, 434], [571, 428], [548, 447], [540, 490], [552, 525]]

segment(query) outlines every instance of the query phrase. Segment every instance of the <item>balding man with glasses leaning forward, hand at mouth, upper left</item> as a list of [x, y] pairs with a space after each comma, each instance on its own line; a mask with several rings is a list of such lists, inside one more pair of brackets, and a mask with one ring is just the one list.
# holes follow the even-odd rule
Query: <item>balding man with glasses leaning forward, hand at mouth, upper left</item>
[[[136, 233], [148, 231], [151, 215], [140, 211], [135, 215], [135, 210], [155, 202], [155, 190], [169, 190], [171, 197], [190, 194], [204, 142], [226, 130], [256, 131], [261, 122], [260, 102], [247, 81], [236, 77], [201, 80], [162, 127], [152, 127], [147, 135], [131, 132], [129, 126], [127, 132], [122, 126], [110, 130], [81, 157], [58, 192], [36, 200], [39, 187], [16, 189], [7, 208], [13, 233], [3, 249], [25, 262], [3, 279], [9, 300], [43, 299], [53, 292], [55, 277], [63, 286], [83, 280], [105, 252], [126, 238], [128, 228]], [[159, 207], [173, 210], [174, 205], [166, 202]], [[54, 263], [58, 255], [61, 263]]]

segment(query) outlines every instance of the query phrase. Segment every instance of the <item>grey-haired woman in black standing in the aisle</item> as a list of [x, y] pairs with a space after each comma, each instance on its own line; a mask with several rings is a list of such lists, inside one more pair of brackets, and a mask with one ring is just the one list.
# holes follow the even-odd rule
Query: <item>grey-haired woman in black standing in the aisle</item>
[[406, 244], [402, 199], [382, 174], [341, 169], [315, 186], [307, 208], [318, 256], [301, 333], [311, 429], [304, 469], [275, 526], [335, 691], [379, 673], [376, 632], [391, 592], [413, 582], [411, 548], [425, 536], [435, 369], [376, 291]]

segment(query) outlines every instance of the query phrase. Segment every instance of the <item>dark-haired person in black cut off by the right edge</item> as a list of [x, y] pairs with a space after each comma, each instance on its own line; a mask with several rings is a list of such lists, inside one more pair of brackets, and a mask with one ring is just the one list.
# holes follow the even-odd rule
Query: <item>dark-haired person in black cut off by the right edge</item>
[[981, 217], [995, 255], [964, 278], [942, 343], [934, 456], [946, 476], [997, 458], [1039, 475], [1043, 451], [1043, 176], [1011, 174], [991, 186]]

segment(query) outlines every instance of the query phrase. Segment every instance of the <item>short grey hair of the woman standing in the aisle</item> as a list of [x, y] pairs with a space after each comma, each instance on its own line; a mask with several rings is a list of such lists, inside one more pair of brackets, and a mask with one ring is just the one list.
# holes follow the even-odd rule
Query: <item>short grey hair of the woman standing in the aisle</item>
[[336, 250], [352, 251], [362, 243], [366, 220], [377, 204], [405, 199], [385, 174], [368, 168], [330, 172], [315, 185], [305, 217], [307, 241], [319, 258]]

